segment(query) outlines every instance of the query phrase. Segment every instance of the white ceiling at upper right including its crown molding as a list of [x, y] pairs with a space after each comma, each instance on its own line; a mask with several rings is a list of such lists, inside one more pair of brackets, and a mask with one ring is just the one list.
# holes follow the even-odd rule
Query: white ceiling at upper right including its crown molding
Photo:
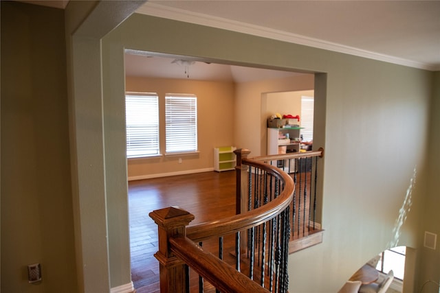
[[440, 70], [440, 1], [151, 0], [137, 12]]

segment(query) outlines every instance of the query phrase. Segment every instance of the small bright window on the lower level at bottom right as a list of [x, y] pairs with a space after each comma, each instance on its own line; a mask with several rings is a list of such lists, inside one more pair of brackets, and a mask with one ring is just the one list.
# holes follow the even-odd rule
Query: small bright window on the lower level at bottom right
[[380, 260], [377, 263], [376, 270], [388, 274], [393, 270], [396, 279], [403, 280], [405, 272], [406, 246], [398, 246], [387, 249], [380, 254]]

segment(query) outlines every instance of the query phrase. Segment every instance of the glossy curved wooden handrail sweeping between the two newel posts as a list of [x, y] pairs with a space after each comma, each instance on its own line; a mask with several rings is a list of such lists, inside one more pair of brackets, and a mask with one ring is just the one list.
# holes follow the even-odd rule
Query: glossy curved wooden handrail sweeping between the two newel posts
[[239, 215], [233, 215], [221, 220], [214, 220], [210, 222], [203, 222], [194, 226], [188, 226], [186, 228], [186, 236], [192, 241], [201, 242], [211, 237], [228, 235], [252, 228], [253, 226], [257, 226], [259, 224], [263, 224], [264, 222], [276, 217], [276, 215], [281, 213], [281, 211], [284, 211], [284, 209], [289, 206], [290, 202], [292, 202], [295, 189], [292, 177], [267, 163], [262, 163], [252, 159], [243, 159], [242, 162], [243, 165], [250, 165], [264, 169], [266, 172], [283, 180], [283, 191], [274, 200], [257, 209], [253, 209], [252, 211], [247, 211]]

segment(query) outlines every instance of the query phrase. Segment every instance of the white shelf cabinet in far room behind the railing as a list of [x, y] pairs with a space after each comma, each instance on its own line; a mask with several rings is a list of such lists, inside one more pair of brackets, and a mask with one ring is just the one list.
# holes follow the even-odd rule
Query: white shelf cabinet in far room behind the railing
[[[300, 127], [267, 128], [267, 154], [286, 154], [300, 151]], [[288, 160], [278, 160], [277, 167], [289, 168]]]

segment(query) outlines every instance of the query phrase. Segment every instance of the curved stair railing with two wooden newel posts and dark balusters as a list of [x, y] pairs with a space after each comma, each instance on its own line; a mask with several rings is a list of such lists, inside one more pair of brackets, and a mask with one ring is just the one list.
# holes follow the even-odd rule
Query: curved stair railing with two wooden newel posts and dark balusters
[[[150, 213], [158, 226], [159, 250], [155, 257], [162, 293], [192, 292], [190, 270], [199, 274], [199, 292], [287, 292], [289, 207], [294, 182], [273, 165], [247, 159], [249, 153], [236, 150], [236, 173], [237, 180], [258, 174], [258, 183], [247, 187], [259, 190], [256, 200], [247, 202], [250, 209], [241, 211], [239, 204], [240, 213], [234, 216], [194, 226], [188, 226], [194, 215], [177, 207]], [[237, 191], [241, 192], [242, 186]], [[230, 235], [235, 236], [235, 246], [224, 252], [223, 238]], [[219, 239], [218, 257], [203, 248], [203, 242], [213, 238]], [[235, 268], [225, 261], [231, 257]]]

